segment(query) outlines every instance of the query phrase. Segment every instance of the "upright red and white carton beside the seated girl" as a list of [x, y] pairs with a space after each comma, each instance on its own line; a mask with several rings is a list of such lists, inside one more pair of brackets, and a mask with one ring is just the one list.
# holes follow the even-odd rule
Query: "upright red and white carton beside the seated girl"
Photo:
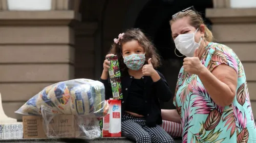
[[108, 100], [109, 112], [103, 117], [102, 136], [121, 137], [121, 100]]

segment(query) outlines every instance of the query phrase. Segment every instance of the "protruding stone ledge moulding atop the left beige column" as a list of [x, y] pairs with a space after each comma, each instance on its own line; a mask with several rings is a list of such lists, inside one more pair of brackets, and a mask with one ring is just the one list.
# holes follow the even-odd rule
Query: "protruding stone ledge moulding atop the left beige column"
[[80, 21], [81, 15], [75, 11], [1, 11], [0, 25], [65, 25]]

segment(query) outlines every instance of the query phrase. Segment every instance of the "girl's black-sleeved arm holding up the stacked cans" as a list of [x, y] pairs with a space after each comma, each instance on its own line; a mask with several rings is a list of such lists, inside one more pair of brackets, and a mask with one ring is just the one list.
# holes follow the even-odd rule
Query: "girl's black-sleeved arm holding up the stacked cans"
[[99, 81], [102, 82], [105, 87], [105, 100], [108, 100], [112, 97], [112, 88], [111, 88], [111, 84], [110, 84], [108, 75], [109, 75], [108, 72], [103, 71], [102, 75], [99, 79]]

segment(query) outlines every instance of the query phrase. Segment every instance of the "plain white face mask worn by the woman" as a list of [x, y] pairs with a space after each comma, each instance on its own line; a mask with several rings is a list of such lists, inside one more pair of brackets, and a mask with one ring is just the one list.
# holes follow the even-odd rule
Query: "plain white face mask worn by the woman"
[[197, 31], [198, 29], [194, 33], [180, 34], [174, 40], [176, 48], [186, 57], [193, 57], [195, 50], [200, 46], [202, 37], [200, 38], [199, 43], [195, 41], [195, 33], [197, 33]]

